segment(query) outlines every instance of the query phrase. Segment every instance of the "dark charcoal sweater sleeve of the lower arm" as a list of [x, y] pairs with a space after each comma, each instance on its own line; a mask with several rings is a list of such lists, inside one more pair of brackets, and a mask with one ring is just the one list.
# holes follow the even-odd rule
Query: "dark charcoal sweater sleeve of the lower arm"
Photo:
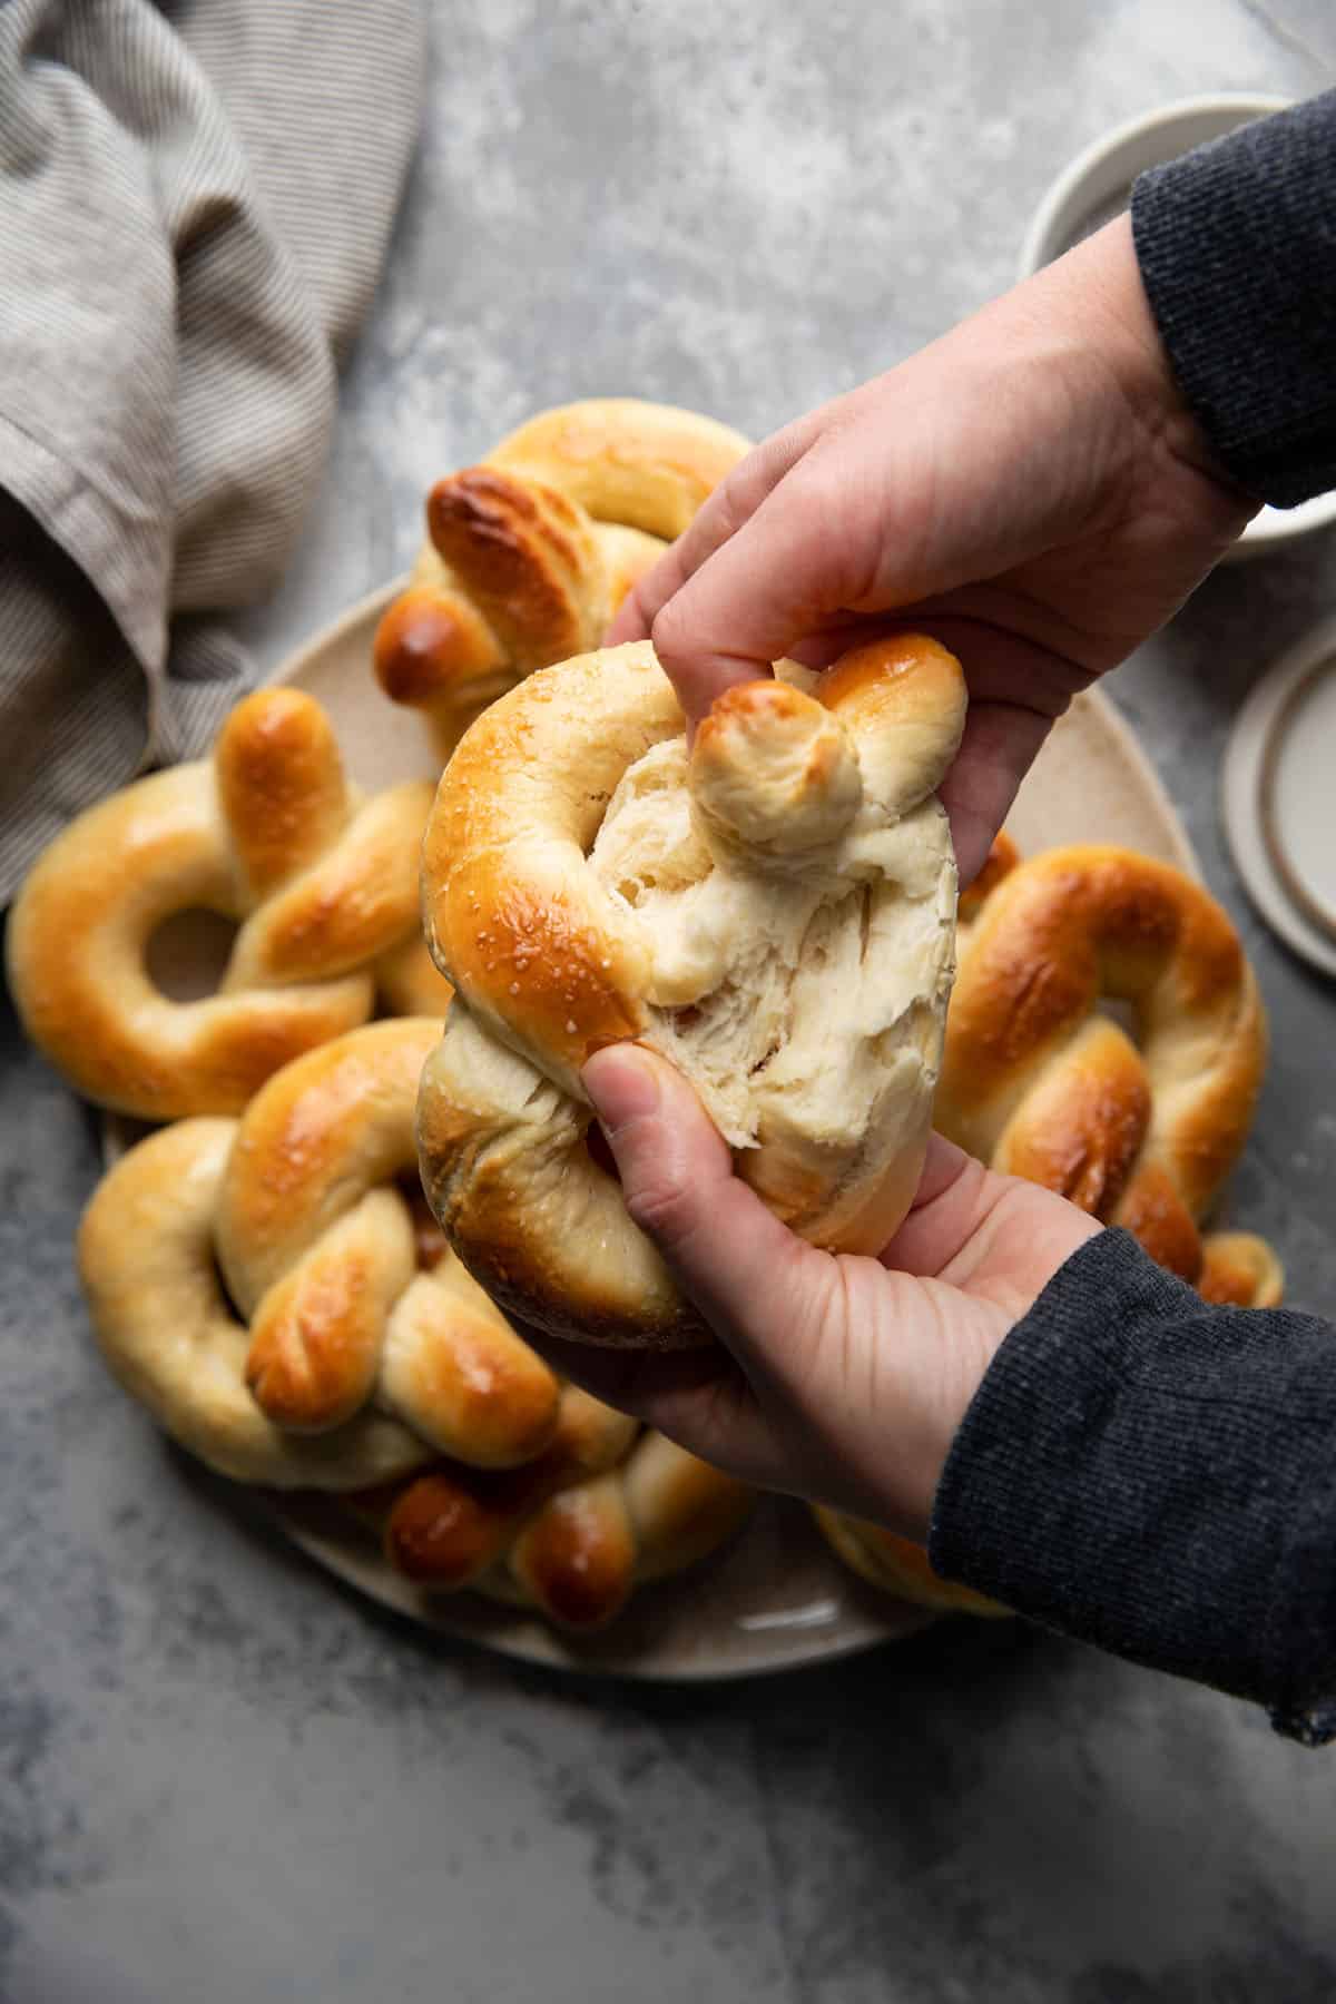
[[929, 1559], [1064, 1635], [1336, 1737], [1336, 1331], [1208, 1307], [1122, 1230], [1010, 1331]]

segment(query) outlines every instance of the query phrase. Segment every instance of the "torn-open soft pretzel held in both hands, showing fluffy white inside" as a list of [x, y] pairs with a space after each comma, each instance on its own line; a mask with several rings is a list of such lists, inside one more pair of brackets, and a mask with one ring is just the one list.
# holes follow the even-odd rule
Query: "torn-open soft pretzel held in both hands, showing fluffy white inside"
[[423, 890], [457, 1000], [423, 1074], [423, 1182], [489, 1295], [553, 1335], [709, 1341], [585, 1146], [579, 1070], [619, 1038], [693, 1080], [813, 1242], [879, 1248], [913, 1196], [961, 671], [897, 635], [787, 675], [721, 695], [687, 754], [647, 643], [583, 655], [485, 711], [441, 782]]

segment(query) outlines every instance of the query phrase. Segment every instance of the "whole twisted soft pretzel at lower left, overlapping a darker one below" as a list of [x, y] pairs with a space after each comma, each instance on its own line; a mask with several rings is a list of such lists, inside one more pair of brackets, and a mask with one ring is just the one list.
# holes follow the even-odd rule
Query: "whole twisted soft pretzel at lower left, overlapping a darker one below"
[[437, 1036], [353, 1030], [240, 1122], [150, 1134], [88, 1204], [78, 1265], [106, 1361], [222, 1475], [363, 1489], [437, 1453], [509, 1467], [553, 1437], [557, 1379], [459, 1261], [423, 1271], [395, 1182]]

